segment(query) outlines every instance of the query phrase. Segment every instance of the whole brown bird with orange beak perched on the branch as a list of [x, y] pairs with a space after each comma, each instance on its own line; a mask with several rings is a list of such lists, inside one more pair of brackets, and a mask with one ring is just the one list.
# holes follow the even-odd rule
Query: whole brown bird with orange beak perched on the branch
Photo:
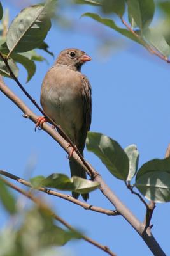
[[[43, 111], [73, 141], [83, 155], [87, 132], [92, 118], [92, 89], [89, 79], [81, 74], [81, 67], [92, 60], [84, 51], [76, 48], [61, 51], [55, 64], [48, 70], [41, 86]], [[37, 125], [46, 122], [40, 118]], [[59, 131], [60, 132], [60, 131]], [[71, 176], [87, 179], [85, 170], [69, 157]], [[80, 194], [72, 192], [74, 198]], [[89, 194], [81, 194], [87, 201]]]

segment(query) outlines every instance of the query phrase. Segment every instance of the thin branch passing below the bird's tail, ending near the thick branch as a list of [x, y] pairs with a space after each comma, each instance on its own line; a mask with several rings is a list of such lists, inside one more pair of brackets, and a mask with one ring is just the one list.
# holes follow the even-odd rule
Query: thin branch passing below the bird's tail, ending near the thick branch
[[[3, 175], [3, 176], [8, 177], [10, 179], [16, 180], [17, 182], [19, 182], [21, 184], [24, 184], [27, 187], [32, 188], [30, 182], [28, 182], [27, 180], [21, 179], [20, 177], [18, 177], [16, 175], [13, 175], [13, 174], [11, 174], [9, 172], [6, 172], [4, 170], [0, 170], [0, 174]], [[62, 198], [62, 199], [67, 200], [69, 202], [72, 202], [73, 204], [80, 205], [85, 210], [91, 210], [91, 211], [94, 211], [94, 212], [103, 213], [103, 214], [106, 214], [108, 216], [117, 216], [117, 215], [119, 215], [119, 213], [117, 211], [111, 211], [111, 210], [108, 210], [108, 209], [103, 209], [101, 207], [97, 207], [97, 206], [94, 206], [94, 205], [87, 204], [85, 202], [81, 202], [80, 200], [74, 198], [73, 196], [65, 195], [65, 194], [59, 193], [57, 191], [54, 191], [52, 189], [48, 189], [48, 188], [45, 188], [45, 187], [38, 187], [38, 188], [34, 188], [34, 189], [42, 191], [42, 192], [44, 192], [48, 195], [57, 196], [59, 198]]]

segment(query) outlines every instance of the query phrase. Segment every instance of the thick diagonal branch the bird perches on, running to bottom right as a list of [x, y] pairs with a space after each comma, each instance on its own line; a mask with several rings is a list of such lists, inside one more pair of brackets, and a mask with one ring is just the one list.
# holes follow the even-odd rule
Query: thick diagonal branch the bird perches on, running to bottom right
[[[32, 120], [32, 122], [36, 123], [38, 116], [32, 113], [32, 111], [29, 108], [27, 108], [24, 102], [22, 102], [22, 100], [20, 100], [13, 92], [11, 92], [10, 88], [8, 88], [1, 80], [0, 80], [0, 90], [4, 93], [4, 95], [6, 95], [6, 97], [12, 100], [15, 103], [15, 105], [18, 106], [18, 108], [20, 108], [24, 112], [25, 117], [29, 118], [30, 120]], [[59, 133], [54, 131], [52, 127], [44, 123], [43, 130], [46, 131], [55, 141], [57, 141], [57, 143], [59, 143], [60, 146], [64, 148], [64, 150], [68, 154], [71, 153], [72, 150], [70, 147], [67, 147], [68, 145], [67, 141], [64, 140], [64, 138], [62, 138], [62, 136], [60, 136]], [[134, 230], [138, 232], [138, 234], [142, 237], [142, 239], [148, 245], [148, 248], [150, 248], [150, 250], [152, 251], [153, 255], [165, 256], [165, 253], [162, 251], [162, 248], [159, 246], [159, 244], [153, 237], [152, 233], [150, 232], [150, 228], [147, 228], [147, 230], [145, 230], [145, 225], [143, 225], [143, 223], [141, 223], [136, 218], [136, 216], [134, 216], [132, 212], [129, 211], [127, 207], [125, 207], [124, 204], [122, 204], [120, 199], [117, 198], [117, 196], [113, 193], [113, 191], [111, 191], [111, 189], [105, 184], [105, 182], [101, 178], [101, 175], [99, 175], [99, 173], [97, 173], [96, 170], [94, 170], [94, 168], [92, 168], [92, 166], [89, 163], [87, 163], [87, 161], [85, 161], [85, 159], [81, 161], [81, 158], [80, 156], [78, 156], [76, 151], [73, 151], [73, 158], [77, 163], [79, 163], [82, 166], [82, 168], [86, 172], [88, 173], [90, 172], [94, 174], [94, 180], [99, 182], [101, 192], [104, 194], [104, 196], [106, 196], [106, 198], [108, 198], [111, 204], [115, 206], [116, 210], [125, 218], [125, 220], [127, 220], [131, 224]], [[84, 164], [84, 162], [86, 164]]]

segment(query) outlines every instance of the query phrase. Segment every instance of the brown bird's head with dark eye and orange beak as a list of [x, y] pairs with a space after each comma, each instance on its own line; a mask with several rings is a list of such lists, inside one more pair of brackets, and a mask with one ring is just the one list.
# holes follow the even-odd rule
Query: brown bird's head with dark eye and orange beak
[[85, 52], [71, 48], [60, 52], [56, 64], [66, 65], [71, 70], [81, 71], [81, 66], [90, 60], [92, 60], [92, 58]]

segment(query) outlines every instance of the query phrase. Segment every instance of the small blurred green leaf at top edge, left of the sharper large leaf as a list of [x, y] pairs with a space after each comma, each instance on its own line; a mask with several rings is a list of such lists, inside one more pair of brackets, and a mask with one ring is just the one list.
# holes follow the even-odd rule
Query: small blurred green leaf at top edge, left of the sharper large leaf
[[122, 17], [125, 12], [125, 0], [103, 0], [102, 10], [104, 13], [117, 13]]

